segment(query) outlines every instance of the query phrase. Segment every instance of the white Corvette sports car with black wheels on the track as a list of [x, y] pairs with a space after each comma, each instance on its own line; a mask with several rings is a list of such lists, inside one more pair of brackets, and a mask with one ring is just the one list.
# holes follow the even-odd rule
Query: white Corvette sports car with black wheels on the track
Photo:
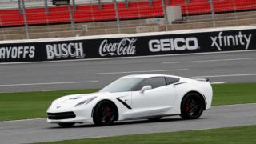
[[118, 78], [92, 94], [64, 96], [52, 102], [47, 122], [60, 126], [94, 122], [99, 126], [135, 118], [158, 120], [180, 115], [195, 119], [210, 109], [213, 91], [206, 79], [163, 74]]

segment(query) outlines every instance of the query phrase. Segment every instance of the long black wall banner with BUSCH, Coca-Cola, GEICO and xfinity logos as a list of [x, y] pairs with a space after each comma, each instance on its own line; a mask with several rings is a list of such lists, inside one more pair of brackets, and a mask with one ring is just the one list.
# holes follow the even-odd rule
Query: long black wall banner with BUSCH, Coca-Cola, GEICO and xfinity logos
[[[36, 62], [256, 49], [256, 30], [0, 44], [1, 62]], [[117, 36], [118, 37], [118, 36]]]

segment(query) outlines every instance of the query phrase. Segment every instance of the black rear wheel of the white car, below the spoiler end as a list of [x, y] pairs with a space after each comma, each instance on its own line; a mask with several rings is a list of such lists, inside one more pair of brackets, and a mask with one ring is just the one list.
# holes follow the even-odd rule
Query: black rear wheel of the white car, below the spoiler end
[[204, 99], [198, 93], [186, 94], [181, 103], [181, 117], [183, 119], [197, 119], [204, 110]]

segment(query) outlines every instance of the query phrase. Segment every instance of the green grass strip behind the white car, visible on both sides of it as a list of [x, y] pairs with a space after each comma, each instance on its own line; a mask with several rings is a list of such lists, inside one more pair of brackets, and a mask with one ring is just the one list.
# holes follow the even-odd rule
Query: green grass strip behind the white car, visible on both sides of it
[[[256, 83], [213, 85], [213, 105], [256, 102]], [[0, 93], [0, 121], [45, 118], [47, 107], [68, 94], [92, 93], [97, 90], [58, 90], [21, 93]]]

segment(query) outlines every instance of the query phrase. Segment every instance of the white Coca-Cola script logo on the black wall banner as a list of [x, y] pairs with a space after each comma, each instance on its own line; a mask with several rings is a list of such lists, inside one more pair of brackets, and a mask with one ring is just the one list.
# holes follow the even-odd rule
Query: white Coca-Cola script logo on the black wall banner
[[136, 46], [134, 43], [137, 38], [122, 38], [120, 42], [109, 43], [107, 39], [103, 40], [99, 47], [99, 54], [104, 57], [106, 55], [126, 56], [134, 55], [136, 52]]

